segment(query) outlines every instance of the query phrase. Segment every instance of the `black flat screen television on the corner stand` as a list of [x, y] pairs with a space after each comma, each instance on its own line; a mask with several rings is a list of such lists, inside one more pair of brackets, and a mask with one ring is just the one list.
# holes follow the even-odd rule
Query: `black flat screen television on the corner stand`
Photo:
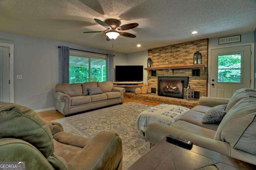
[[117, 82], [143, 81], [143, 66], [116, 66]]

